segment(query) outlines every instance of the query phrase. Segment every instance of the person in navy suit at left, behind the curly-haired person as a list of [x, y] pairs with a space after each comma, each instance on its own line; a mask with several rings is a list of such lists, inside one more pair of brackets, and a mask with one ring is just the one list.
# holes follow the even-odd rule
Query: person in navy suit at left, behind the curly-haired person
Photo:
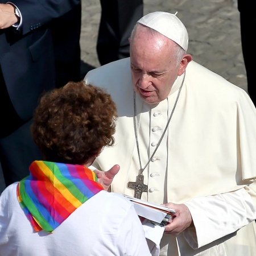
[[60, 77], [55, 63], [61, 43], [54, 42], [51, 26], [79, 5], [81, 11], [80, 0], [11, 3], [0, 0], [0, 162], [6, 185], [26, 176], [31, 160], [42, 159], [30, 123], [40, 94]]

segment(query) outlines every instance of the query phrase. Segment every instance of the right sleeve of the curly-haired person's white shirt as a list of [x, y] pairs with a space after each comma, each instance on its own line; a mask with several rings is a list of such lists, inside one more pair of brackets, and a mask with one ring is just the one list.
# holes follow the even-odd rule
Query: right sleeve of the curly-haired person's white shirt
[[120, 255], [149, 256], [144, 230], [134, 207], [127, 211], [120, 225], [117, 238], [117, 247]]

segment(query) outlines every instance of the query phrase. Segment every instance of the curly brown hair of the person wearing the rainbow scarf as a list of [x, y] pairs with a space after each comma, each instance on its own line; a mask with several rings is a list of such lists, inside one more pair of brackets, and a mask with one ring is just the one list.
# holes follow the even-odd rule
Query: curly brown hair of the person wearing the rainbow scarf
[[103, 89], [68, 82], [40, 99], [32, 138], [50, 162], [85, 164], [114, 144], [117, 109]]

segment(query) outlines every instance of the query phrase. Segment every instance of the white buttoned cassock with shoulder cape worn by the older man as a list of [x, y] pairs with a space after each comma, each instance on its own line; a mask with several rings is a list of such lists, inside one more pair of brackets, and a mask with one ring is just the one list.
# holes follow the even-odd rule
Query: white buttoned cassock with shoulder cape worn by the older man
[[[136, 96], [142, 168], [166, 127], [183, 75], [168, 98], [148, 105]], [[106, 88], [117, 104], [115, 146], [93, 166], [121, 167], [112, 189], [134, 196], [139, 159], [134, 134], [130, 59], [90, 71], [86, 83]], [[179, 101], [154, 159], [144, 170], [142, 199], [184, 203], [194, 228], [162, 238], [160, 255], [256, 255], [256, 110], [244, 90], [192, 61]]]

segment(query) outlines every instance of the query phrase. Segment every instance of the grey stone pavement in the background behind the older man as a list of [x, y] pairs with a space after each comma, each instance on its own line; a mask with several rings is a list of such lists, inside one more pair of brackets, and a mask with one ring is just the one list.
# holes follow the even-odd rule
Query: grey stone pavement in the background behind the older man
[[[144, 0], [144, 14], [153, 11], [178, 11], [188, 30], [193, 60], [247, 90], [237, 0]], [[82, 0], [81, 78], [100, 66], [96, 53], [100, 16], [100, 0]], [[0, 193], [3, 188], [0, 170]]]

